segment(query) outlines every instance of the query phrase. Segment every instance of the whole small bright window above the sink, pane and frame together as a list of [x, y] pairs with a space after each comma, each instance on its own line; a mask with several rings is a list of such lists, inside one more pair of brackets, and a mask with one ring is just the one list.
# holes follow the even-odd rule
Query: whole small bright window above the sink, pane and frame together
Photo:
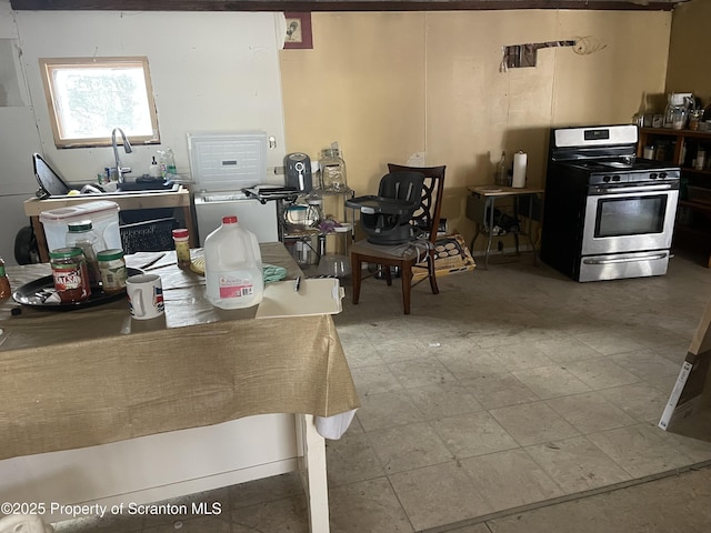
[[101, 147], [121, 128], [134, 143], [159, 143], [148, 58], [40, 59], [58, 148]]

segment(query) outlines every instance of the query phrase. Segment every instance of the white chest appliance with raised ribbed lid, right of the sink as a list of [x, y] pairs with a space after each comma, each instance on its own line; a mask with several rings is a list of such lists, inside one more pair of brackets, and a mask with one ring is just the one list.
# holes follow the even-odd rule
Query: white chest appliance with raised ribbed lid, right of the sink
[[278, 241], [277, 202], [261, 203], [242, 192], [267, 181], [267, 133], [189, 134], [188, 149], [200, 245], [228, 215], [237, 215], [259, 242]]

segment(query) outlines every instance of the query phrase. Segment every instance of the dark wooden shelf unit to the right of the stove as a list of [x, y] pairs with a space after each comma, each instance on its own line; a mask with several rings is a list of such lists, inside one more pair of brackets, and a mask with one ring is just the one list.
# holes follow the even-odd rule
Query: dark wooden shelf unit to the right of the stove
[[[662, 128], [640, 128], [637, 154], [642, 157], [644, 147], [669, 143], [660, 161], [681, 168], [680, 201], [674, 228], [674, 244], [690, 252], [703, 254], [703, 262], [711, 268], [711, 131], [670, 130]], [[705, 149], [705, 164], [695, 169], [693, 161], [699, 147]], [[699, 192], [709, 190], [707, 198]]]

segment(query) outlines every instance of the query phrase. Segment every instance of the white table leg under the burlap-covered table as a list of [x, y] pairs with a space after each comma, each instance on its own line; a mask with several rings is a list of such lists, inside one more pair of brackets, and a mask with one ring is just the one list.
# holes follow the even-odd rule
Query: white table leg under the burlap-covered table
[[[329, 533], [329, 493], [326, 475], [326, 440], [317, 432], [311, 414], [297, 414], [302, 481], [309, 502], [311, 533]], [[306, 476], [304, 476], [306, 474]]]

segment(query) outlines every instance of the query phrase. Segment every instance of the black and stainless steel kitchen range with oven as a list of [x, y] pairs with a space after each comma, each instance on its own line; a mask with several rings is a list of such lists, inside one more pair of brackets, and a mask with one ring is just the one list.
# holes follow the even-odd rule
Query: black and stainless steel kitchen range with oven
[[541, 259], [575, 281], [667, 273], [680, 169], [637, 141], [631, 124], [551, 131]]

